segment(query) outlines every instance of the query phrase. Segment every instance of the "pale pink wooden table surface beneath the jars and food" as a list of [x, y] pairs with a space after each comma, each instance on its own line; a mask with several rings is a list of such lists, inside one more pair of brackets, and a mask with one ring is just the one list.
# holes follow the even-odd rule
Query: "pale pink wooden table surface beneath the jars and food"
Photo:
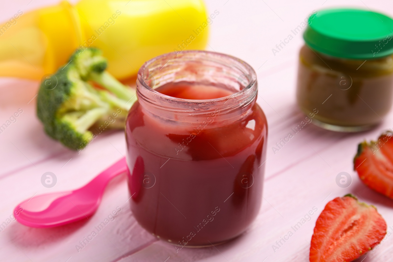
[[[3, 0], [1, 20], [8, 19], [19, 9], [25, 12], [57, 1], [29, 2], [16, 0], [5, 4]], [[375, 205], [385, 218], [388, 235], [391, 235], [393, 201], [360, 183], [353, 171], [352, 159], [360, 141], [376, 139], [382, 130], [393, 127], [393, 112], [378, 128], [360, 134], [329, 132], [307, 124], [279, 151], [272, 150], [291, 128], [304, 120], [295, 103], [297, 57], [303, 40], [300, 33], [294, 35], [291, 30], [301, 25], [312, 10], [337, 5], [371, 8], [393, 16], [391, 1], [207, 1], [209, 14], [219, 11], [210, 26], [208, 49], [239, 57], [255, 68], [259, 81], [258, 103], [269, 125], [263, 205], [244, 235], [220, 246], [183, 248], [176, 253], [175, 247], [161, 242], [136, 223], [127, 202], [125, 176], [121, 176], [110, 183], [97, 213], [90, 219], [52, 229], [6, 223], [6, 227], [0, 228], [0, 260], [306, 262], [318, 215], [329, 200], [347, 193]], [[278, 53], [273, 53], [272, 48], [290, 34], [294, 38]], [[35, 116], [37, 87], [38, 82], [0, 79], [0, 125], [18, 108], [23, 110], [17, 121], [0, 134], [0, 224], [7, 221], [20, 201], [35, 194], [84, 185], [125, 155], [123, 132], [100, 135], [79, 155], [49, 139]], [[44, 172], [57, 176], [55, 187], [42, 186], [40, 178]], [[353, 181], [348, 188], [336, 185], [339, 172], [351, 174]], [[80, 245], [79, 241], [90, 235], [116, 208], [121, 208], [116, 219], [78, 250], [75, 246]], [[313, 209], [317, 211], [306, 216]], [[306, 220], [302, 220], [305, 216]], [[305, 222], [294, 231], [292, 227], [302, 221]], [[293, 235], [289, 239], [286, 236], [284, 242], [281, 238], [289, 231]], [[393, 237], [387, 236], [359, 262], [392, 261], [392, 247]]]

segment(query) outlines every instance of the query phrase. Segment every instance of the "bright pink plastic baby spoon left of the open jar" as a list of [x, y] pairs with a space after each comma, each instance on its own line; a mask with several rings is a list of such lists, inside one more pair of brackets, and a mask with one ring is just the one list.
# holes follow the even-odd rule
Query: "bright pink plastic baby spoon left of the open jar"
[[56, 227], [87, 218], [97, 210], [108, 182], [126, 171], [127, 163], [122, 158], [80, 189], [25, 200], [15, 207], [15, 217], [29, 227]]

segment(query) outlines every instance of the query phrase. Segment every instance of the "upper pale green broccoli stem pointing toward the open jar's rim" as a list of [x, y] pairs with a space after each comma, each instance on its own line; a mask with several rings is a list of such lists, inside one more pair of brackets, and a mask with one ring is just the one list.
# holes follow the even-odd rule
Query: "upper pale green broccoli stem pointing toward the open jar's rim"
[[121, 84], [121, 82], [110, 75], [107, 71], [103, 71], [102, 73], [91, 72], [90, 79], [97, 82], [103, 86], [103, 88], [114, 93], [118, 98], [121, 98], [126, 102], [134, 99], [134, 97], [136, 99], [135, 91]]

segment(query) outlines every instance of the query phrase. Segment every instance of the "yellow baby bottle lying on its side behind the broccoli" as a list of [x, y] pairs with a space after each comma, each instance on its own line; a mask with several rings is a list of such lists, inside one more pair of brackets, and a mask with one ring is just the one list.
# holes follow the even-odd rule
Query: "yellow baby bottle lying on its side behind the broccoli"
[[209, 23], [202, 0], [81, 0], [19, 10], [0, 24], [0, 76], [39, 80], [75, 49], [97, 47], [108, 71], [127, 79], [162, 53], [204, 49]]

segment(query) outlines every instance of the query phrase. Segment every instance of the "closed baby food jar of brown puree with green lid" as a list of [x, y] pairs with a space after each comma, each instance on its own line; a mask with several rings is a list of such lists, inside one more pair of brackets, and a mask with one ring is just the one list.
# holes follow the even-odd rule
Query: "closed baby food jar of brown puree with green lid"
[[393, 101], [393, 20], [358, 9], [309, 19], [299, 54], [297, 101], [313, 123], [342, 132], [378, 125]]

